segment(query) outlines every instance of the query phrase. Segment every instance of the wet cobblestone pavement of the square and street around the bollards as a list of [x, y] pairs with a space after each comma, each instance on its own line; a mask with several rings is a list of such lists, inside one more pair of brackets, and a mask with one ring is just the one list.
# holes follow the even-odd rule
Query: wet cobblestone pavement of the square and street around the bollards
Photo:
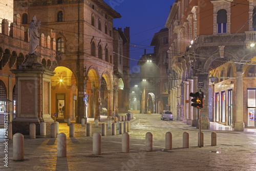
[[[92, 120], [89, 122], [93, 123]], [[103, 123], [103, 122], [100, 122]], [[108, 129], [101, 140], [102, 155], [93, 155], [93, 137], [86, 137], [86, 127], [75, 124], [75, 137], [69, 137], [67, 123], [59, 123], [59, 133], [67, 135], [67, 158], [57, 157], [57, 139], [37, 136], [24, 139], [24, 161], [13, 161], [12, 140], [8, 141], [8, 167], [4, 166], [4, 137], [0, 129], [0, 170], [256, 170], [256, 130], [245, 132], [210, 123], [203, 130], [204, 147], [198, 147], [198, 130], [180, 121], [162, 121], [158, 114], [135, 114], [130, 121], [130, 153], [121, 152], [121, 135]], [[215, 130], [212, 130], [215, 129]], [[217, 146], [210, 146], [211, 132], [217, 132]], [[101, 126], [92, 124], [92, 135]], [[153, 134], [153, 152], [145, 152], [145, 134]], [[173, 136], [173, 149], [165, 150], [165, 133]], [[182, 148], [182, 134], [189, 133], [189, 148]]]

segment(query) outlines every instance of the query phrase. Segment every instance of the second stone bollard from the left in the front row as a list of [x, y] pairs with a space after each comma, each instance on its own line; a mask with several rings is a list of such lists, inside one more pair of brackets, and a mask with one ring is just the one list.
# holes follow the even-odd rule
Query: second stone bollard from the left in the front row
[[57, 157], [67, 157], [67, 136], [64, 133], [57, 135]]

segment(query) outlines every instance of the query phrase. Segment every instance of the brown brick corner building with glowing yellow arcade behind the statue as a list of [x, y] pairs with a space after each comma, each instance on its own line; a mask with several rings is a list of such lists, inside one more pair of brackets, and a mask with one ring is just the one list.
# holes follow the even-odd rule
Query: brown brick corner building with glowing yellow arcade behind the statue
[[102, 108], [109, 117], [129, 109], [130, 63], [123, 57], [129, 58], [129, 52], [123, 52], [129, 51], [130, 30], [113, 29], [119, 13], [102, 0], [14, 0], [14, 10], [25, 29], [36, 15], [42, 33], [56, 33], [62, 59], [51, 78], [52, 117], [80, 122], [84, 117], [99, 118]]

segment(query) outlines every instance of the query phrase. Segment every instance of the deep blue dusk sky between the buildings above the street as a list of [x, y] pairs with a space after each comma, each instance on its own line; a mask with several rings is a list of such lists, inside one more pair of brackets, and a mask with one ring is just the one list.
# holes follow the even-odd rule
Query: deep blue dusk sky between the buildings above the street
[[[104, 1], [122, 16], [114, 19], [114, 27], [130, 27], [130, 73], [139, 72], [138, 60], [144, 54], [144, 49], [146, 53], [154, 52], [150, 46], [152, 38], [155, 33], [165, 28], [170, 6], [175, 0]], [[132, 47], [133, 45], [135, 47]]]

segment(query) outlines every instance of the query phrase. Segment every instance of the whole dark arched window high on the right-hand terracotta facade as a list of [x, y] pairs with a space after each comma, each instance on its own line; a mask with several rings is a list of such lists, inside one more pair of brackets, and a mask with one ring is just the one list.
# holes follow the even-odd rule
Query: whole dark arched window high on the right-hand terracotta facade
[[227, 11], [221, 9], [217, 12], [218, 33], [227, 33]]

